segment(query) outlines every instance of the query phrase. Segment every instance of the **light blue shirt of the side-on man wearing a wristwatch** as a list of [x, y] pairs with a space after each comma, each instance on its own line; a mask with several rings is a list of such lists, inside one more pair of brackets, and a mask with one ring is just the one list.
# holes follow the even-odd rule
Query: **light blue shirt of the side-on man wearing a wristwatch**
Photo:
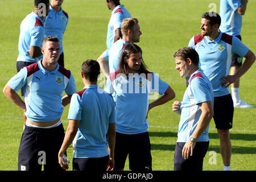
[[[180, 106], [181, 115], [177, 142], [187, 142], [195, 131], [202, 113], [199, 104], [207, 101], [211, 101], [212, 105], [214, 104], [212, 84], [202, 70], [199, 69], [194, 72], [188, 82], [189, 84]], [[197, 142], [209, 141], [208, 130], [209, 125], [197, 139]]]

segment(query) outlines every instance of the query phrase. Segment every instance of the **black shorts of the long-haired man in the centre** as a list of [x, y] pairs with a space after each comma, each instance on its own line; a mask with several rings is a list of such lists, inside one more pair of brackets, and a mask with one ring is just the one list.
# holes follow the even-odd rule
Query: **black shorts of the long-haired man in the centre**
[[127, 135], [115, 134], [115, 167], [123, 169], [129, 154], [130, 170], [152, 171], [151, 144], [148, 132]]

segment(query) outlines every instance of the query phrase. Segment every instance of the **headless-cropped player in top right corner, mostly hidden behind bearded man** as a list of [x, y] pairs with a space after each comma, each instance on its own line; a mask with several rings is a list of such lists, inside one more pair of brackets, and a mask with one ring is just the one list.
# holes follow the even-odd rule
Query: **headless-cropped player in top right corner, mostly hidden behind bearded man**
[[[245, 14], [248, 0], [221, 0], [220, 1], [220, 16], [221, 26], [220, 30], [228, 35], [236, 36], [242, 39], [240, 32], [242, 27], [242, 15]], [[234, 54], [232, 55], [232, 63], [230, 75], [234, 75], [242, 66], [242, 57]], [[246, 104], [239, 96], [240, 80], [231, 84], [232, 99], [234, 107], [250, 108], [253, 105]]]

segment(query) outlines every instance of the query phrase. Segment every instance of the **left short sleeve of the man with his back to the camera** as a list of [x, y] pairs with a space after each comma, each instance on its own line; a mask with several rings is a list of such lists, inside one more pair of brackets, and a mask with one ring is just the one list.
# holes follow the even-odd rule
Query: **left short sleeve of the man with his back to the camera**
[[82, 104], [79, 94], [73, 94], [68, 111], [68, 119], [81, 121], [82, 119]]

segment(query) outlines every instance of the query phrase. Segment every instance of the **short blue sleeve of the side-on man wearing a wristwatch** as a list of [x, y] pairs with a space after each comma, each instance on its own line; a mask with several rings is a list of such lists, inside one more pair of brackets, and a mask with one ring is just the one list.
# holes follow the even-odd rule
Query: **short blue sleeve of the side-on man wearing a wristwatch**
[[190, 84], [191, 93], [195, 97], [196, 104], [202, 102], [212, 101], [210, 95], [210, 88], [207, 82], [204, 81], [201, 77], [196, 77], [191, 81]]

